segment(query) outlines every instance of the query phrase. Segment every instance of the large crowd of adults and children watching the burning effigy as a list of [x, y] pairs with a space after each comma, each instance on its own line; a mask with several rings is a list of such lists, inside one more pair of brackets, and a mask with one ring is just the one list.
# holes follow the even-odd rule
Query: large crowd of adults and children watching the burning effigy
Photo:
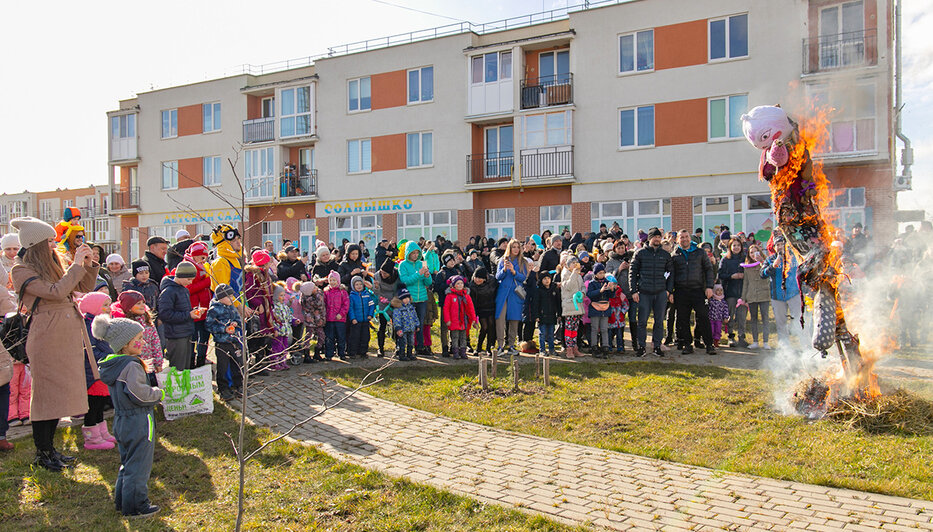
[[[7, 425], [31, 423], [36, 463], [70, 467], [74, 457], [54, 447], [56, 427], [83, 415], [86, 449], [120, 444], [117, 507], [128, 515], [154, 508], [140, 478], [151, 467], [155, 374], [211, 363], [211, 344], [218, 394], [230, 401], [242, 393], [244, 352], [268, 375], [370, 354], [408, 361], [540, 350], [573, 359], [770, 349], [772, 320], [778, 345], [799, 334], [790, 324], [805, 296], [778, 231], [767, 242], [725, 226], [712, 241], [699, 228], [630, 238], [614, 224], [522, 240], [384, 239], [373, 250], [318, 241], [302, 252], [287, 240], [247, 251], [239, 231], [221, 225], [210, 235], [179, 231], [174, 244], [151, 237], [144, 255], [127, 261], [85, 242], [80, 213], [68, 214], [55, 228], [15, 219], [17, 232], [0, 240], [0, 310], [32, 309], [28, 367], [13, 363], [0, 387], [0, 450], [12, 448]], [[857, 225], [833, 246], [854, 274], [883, 253], [919, 259], [931, 236], [924, 223], [882, 250]], [[115, 435], [104, 420], [111, 405]]]

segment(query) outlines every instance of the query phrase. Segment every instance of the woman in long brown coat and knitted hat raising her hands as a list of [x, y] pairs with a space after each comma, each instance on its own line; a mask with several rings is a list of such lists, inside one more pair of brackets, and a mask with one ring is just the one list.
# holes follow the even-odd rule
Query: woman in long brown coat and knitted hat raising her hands
[[32, 373], [29, 415], [36, 445], [35, 463], [58, 472], [75, 461], [53, 446], [58, 420], [88, 411], [85, 360], [94, 378], [100, 378], [84, 317], [73, 299], [76, 291], [94, 289], [100, 265], [91, 260], [91, 248], [81, 244], [74, 248], [74, 261], [66, 271], [55, 252], [55, 229], [51, 225], [31, 217], [16, 218], [10, 224], [19, 230], [23, 245], [11, 272], [13, 287], [18, 292], [31, 279], [22, 303], [32, 308], [39, 301], [26, 339]]

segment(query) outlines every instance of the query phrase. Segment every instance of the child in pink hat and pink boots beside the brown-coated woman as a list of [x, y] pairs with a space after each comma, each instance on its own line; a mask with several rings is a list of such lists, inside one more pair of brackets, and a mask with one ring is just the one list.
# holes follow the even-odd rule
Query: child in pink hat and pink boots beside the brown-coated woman
[[[78, 303], [78, 310], [84, 315], [84, 324], [91, 340], [91, 348], [94, 350], [96, 366], [108, 355], [113, 354], [107, 342], [94, 338], [91, 334], [91, 322], [94, 318], [100, 314], [110, 314], [110, 296], [101, 292], [84, 294]], [[81, 427], [81, 432], [84, 434], [84, 448], [89, 450], [113, 449], [114, 442], [117, 440], [107, 431], [107, 422], [104, 421], [104, 407], [107, 405], [110, 393], [107, 392], [107, 385], [97, 378], [94, 369], [96, 368], [92, 368], [91, 363], [85, 357], [84, 380], [87, 384], [88, 411], [84, 415], [84, 426]]]

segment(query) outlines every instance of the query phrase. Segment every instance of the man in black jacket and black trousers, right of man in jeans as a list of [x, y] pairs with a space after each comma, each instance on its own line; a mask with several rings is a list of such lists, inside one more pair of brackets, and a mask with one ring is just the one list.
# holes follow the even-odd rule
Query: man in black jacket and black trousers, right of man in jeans
[[706, 354], [715, 355], [713, 330], [706, 307], [706, 300], [713, 297], [713, 265], [686, 229], [677, 235], [677, 248], [671, 262], [674, 266], [674, 294], [669, 301], [677, 309], [677, 337], [683, 344], [683, 354], [693, 353], [690, 313], [696, 312], [697, 329], [706, 345]]

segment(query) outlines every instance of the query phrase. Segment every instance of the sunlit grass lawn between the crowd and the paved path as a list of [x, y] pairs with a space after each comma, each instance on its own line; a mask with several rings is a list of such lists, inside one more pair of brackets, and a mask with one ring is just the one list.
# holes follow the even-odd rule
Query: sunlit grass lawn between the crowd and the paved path
[[[867, 434], [771, 409], [761, 371], [652, 362], [554, 364], [551, 388], [505, 366], [475, 393], [476, 366], [390, 368], [367, 393], [444, 416], [643, 456], [933, 500], [933, 437]], [[344, 384], [350, 369], [331, 374]], [[469, 393], [464, 393], [468, 391]]]

